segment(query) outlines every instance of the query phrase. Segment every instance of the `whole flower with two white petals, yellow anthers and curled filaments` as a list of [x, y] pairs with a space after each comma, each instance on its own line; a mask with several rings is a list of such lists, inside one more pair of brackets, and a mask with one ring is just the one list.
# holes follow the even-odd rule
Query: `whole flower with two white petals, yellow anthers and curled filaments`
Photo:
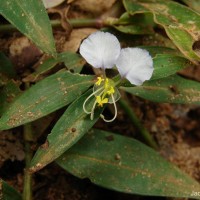
[[[93, 87], [93, 93], [87, 97], [83, 104], [85, 113], [90, 114], [91, 120], [94, 116], [96, 106], [110, 103], [114, 105], [115, 114], [112, 119], [100, 117], [105, 122], [112, 122], [117, 117], [116, 101], [120, 98], [117, 89], [121, 80], [126, 78], [134, 85], [142, 85], [149, 80], [153, 74], [153, 60], [149, 52], [140, 48], [121, 49], [118, 39], [111, 33], [97, 31], [86, 38], [80, 46], [80, 54], [94, 68], [102, 70], [102, 76], [98, 76]], [[106, 76], [106, 69], [116, 67], [121, 78], [118, 81]], [[95, 102], [90, 111], [86, 104], [90, 98], [95, 96]]]

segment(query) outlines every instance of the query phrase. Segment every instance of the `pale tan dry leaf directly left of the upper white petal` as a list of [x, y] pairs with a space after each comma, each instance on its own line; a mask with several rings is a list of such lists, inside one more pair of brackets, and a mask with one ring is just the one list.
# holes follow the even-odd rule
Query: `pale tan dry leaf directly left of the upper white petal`
[[64, 44], [63, 51], [77, 52], [81, 41], [95, 31], [97, 31], [97, 29], [94, 28], [80, 28], [72, 30], [68, 41]]

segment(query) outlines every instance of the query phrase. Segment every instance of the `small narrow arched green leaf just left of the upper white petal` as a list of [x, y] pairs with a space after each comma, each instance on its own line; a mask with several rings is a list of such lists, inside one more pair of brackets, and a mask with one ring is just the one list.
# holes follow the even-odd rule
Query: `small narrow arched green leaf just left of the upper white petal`
[[24, 81], [35, 81], [37, 78], [48, 72], [50, 69], [54, 68], [58, 63], [64, 62], [67, 69], [75, 73], [80, 73], [85, 64], [83, 58], [72, 52], [63, 52], [57, 55], [56, 58], [49, 58], [45, 60], [34, 73], [30, 74], [24, 79]]

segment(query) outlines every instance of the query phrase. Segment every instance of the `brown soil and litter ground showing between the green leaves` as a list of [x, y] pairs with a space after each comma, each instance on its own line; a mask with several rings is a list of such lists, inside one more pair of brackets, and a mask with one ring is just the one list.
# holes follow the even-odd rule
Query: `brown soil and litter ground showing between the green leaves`
[[[68, 1], [69, 4], [66, 1], [64, 4], [50, 9], [49, 13], [52, 18], [59, 16], [61, 20], [64, 20], [66, 15], [69, 18], [95, 17], [106, 13], [115, 1], [109, 1], [109, 4], [100, 1], [99, 5], [93, 5], [91, 2], [88, 0], [90, 6], [87, 7], [84, 0]], [[82, 39], [94, 31], [96, 28], [77, 28], [71, 31], [67, 24], [63, 25], [61, 29], [55, 29], [57, 50], [62, 52], [70, 49], [77, 52]], [[143, 43], [145, 42], [143, 41]], [[12, 60], [21, 79], [33, 72], [40, 59], [43, 58], [43, 53], [19, 32], [0, 35], [0, 51]], [[189, 79], [200, 81], [199, 67], [187, 68], [180, 74]], [[159, 152], [162, 156], [200, 182], [200, 107], [154, 103], [131, 95], [128, 98], [133, 111], [159, 145]], [[138, 130], [128, 119], [126, 113], [119, 105], [118, 108], [118, 117], [113, 123], [99, 120], [95, 127], [142, 141]], [[43, 135], [40, 136], [39, 144], [45, 140], [60, 112], [62, 110], [43, 119], [47, 125], [42, 130]], [[110, 111], [106, 109], [105, 113], [109, 115]], [[36, 130], [38, 129], [36, 127]], [[22, 127], [19, 127], [3, 131], [0, 134], [0, 177], [20, 192], [23, 190], [25, 167], [22, 132]], [[32, 149], [35, 149], [35, 144], [32, 145]], [[80, 180], [74, 177], [55, 163], [48, 165], [34, 175], [33, 197], [37, 200], [165, 199], [128, 195], [107, 190], [92, 184], [88, 179]]]

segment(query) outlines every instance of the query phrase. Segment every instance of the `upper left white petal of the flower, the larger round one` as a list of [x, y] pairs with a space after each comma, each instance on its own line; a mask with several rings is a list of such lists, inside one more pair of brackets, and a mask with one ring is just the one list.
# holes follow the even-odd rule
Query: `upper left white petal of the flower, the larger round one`
[[95, 68], [112, 68], [120, 54], [120, 43], [111, 33], [95, 32], [83, 40], [80, 54]]

